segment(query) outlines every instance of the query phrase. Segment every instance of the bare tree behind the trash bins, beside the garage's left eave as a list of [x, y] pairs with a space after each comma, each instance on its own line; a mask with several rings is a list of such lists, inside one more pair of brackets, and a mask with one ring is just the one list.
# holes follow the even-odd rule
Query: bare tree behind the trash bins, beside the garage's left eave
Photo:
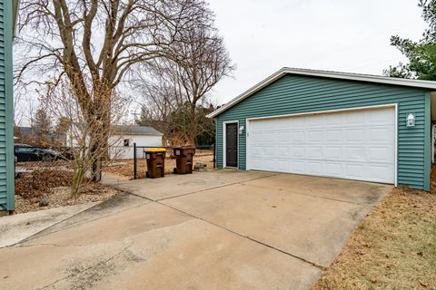
[[173, 51], [183, 55], [181, 60], [158, 59], [147, 63], [140, 90], [144, 93], [145, 113], [151, 120], [168, 120], [173, 111], [183, 110], [188, 121], [186, 140], [193, 143], [202, 133], [198, 108], [207, 107], [207, 93], [233, 72], [234, 66], [225, 49], [223, 38], [207, 23], [192, 23], [183, 31], [186, 42], [173, 43]]

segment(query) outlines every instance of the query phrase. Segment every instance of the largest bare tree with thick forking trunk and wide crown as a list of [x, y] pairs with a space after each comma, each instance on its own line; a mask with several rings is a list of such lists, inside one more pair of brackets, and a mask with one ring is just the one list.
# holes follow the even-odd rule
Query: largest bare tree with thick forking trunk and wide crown
[[16, 79], [31, 72], [29, 82], [44, 83], [41, 73], [50, 74], [54, 86], [67, 79], [84, 121], [101, 122], [94, 128], [101, 139], [91, 148], [108, 139], [110, 118], [102, 115], [111, 112], [106, 96], [114, 95], [137, 63], [183, 62], [185, 55], [174, 51], [179, 47], [174, 43], [185, 42], [183, 31], [193, 22], [207, 23], [211, 14], [201, 0], [23, 0], [20, 7], [24, 58]]

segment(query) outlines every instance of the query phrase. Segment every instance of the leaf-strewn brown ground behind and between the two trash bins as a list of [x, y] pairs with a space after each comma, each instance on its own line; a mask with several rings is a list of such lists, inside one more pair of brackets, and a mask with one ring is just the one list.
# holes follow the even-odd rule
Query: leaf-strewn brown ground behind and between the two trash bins
[[[193, 156], [193, 165], [196, 163], [205, 163], [207, 169], [213, 169], [213, 151], [212, 150], [197, 150]], [[165, 174], [173, 174], [175, 168], [175, 159], [165, 159]], [[138, 179], [145, 178], [147, 164], [145, 159], [139, 159], [137, 162]], [[112, 160], [108, 166], [103, 169], [104, 172], [116, 175], [122, 175], [129, 179], [134, 179], [134, 160]]]

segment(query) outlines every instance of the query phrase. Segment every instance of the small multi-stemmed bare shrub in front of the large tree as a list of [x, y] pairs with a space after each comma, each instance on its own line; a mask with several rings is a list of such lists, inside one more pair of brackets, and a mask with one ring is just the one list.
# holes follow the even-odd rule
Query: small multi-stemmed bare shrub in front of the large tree
[[[91, 83], [91, 81], [86, 82]], [[91, 84], [88, 84], [91, 85]], [[94, 91], [87, 89], [94, 94]], [[104, 136], [113, 136], [111, 124], [119, 122], [127, 111], [127, 100], [122, 95], [112, 94], [102, 95], [98, 92], [99, 98], [109, 105], [100, 106], [97, 113], [105, 116], [109, 120], [94, 119], [84, 121], [85, 111], [74, 95], [76, 90], [67, 81], [61, 81], [58, 85], [50, 84], [47, 88], [45, 98], [42, 102], [50, 113], [57, 120], [62, 120], [64, 128], [68, 124], [65, 133], [66, 146], [71, 150], [73, 159], [70, 160], [73, 167], [73, 184], [71, 193], [77, 197], [83, 185], [84, 178], [94, 179], [94, 174], [99, 171], [93, 169], [94, 160], [102, 160], [109, 148], [117, 144], [123, 136], [115, 136], [107, 142], [95, 142], [102, 140]], [[110, 92], [109, 90], [105, 92]], [[104, 123], [110, 124], [104, 126]], [[114, 157], [116, 159], [116, 156]]]

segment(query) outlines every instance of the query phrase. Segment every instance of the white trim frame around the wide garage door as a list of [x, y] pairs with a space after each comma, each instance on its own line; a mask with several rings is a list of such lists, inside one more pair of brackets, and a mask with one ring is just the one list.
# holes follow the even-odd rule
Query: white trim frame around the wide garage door
[[[310, 111], [310, 112], [302, 112], [302, 113], [293, 113], [287, 115], [279, 115], [279, 116], [267, 116], [267, 117], [259, 117], [259, 118], [247, 118], [246, 119], [246, 170], [251, 169], [251, 160], [250, 160], [250, 123], [251, 121], [259, 121], [259, 120], [268, 120], [268, 119], [278, 119], [278, 118], [288, 118], [288, 117], [297, 117], [302, 115], [316, 115], [316, 114], [325, 114], [325, 113], [334, 113], [334, 112], [345, 112], [345, 111], [364, 111], [364, 110], [372, 110], [372, 109], [382, 109], [382, 108], [391, 108], [395, 109], [395, 120], [394, 120], [394, 131], [395, 131], [395, 140], [394, 140], [394, 185], [398, 186], [398, 104], [391, 103], [385, 105], [376, 105], [376, 106], [366, 106], [366, 107], [355, 107], [355, 108], [347, 108], [347, 109], [338, 109], [338, 110], [328, 110], [328, 111]], [[239, 157], [239, 156], [238, 156]], [[238, 163], [239, 165], [239, 163]]]

